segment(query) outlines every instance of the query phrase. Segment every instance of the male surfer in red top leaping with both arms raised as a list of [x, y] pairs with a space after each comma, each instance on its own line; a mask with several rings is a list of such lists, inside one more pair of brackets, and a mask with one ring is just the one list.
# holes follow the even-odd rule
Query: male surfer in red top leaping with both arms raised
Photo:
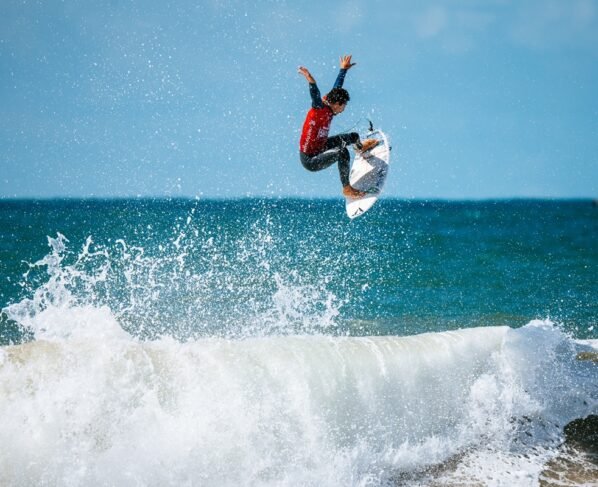
[[342, 113], [350, 99], [349, 93], [343, 88], [343, 82], [347, 71], [353, 66], [355, 63], [351, 62], [350, 55], [340, 58], [340, 72], [334, 87], [324, 98], [321, 97], [316, 80], [307, 68], [299, 67], [299, 73], [305, 76], [309, 83], [311, 95], [311, 109], [305, 117], [299, 141], [299, 156], [301, 164], [308, 171], [321, 171], [337, 162], [343, 195], [349, 198], [361, 198], [365, 193], [349, 184], [351, 155], [347, 145], [355, 144], [356, 150], [365, 152], [376, 146], [378, 141], [367, 139], [362, 142], [356, 132], [328, 137], [332, 117]]

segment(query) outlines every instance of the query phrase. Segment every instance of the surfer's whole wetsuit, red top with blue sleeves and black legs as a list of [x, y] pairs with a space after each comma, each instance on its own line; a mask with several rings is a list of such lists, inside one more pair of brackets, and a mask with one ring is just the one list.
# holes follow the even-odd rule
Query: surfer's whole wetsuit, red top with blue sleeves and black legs
[[[334, 88], [342, 88], [346, 74], [346, 69], [340, 70]], [[299, 140], [301, 163], [308, 171], [321, 171], [338, 162], [341, 183], [343, 187], [347, 186], [351, 155], [346, 146], [359, 142], [359, 135], [353, 132], [328, 137], [334, 113], [322, 101], [320, 90], [315, 83], [309, 84], [309, 94], [311, 95], [311, 109], [305, 117]]]

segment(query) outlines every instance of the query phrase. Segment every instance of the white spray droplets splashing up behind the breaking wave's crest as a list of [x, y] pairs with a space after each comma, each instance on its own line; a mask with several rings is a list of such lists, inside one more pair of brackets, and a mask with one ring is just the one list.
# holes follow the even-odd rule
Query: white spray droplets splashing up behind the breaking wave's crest
[[73, 306], [108, 307], [127, 332], [144, 339], [334, 330], [344, 301], [327, 289], [325, 274], [306, 279], [273, 251], [268, 219], [254, 223], [250, 236], [216, 241], [192, 215], [171, 239], [147, 248], [124, 239], [94, 243], [90, 236], [77, 250], [61, 233], [48, 237], [50, 252], [23, 275], [26, 297], [3, 313], [38, 338], [48, 329], [31, 317]]

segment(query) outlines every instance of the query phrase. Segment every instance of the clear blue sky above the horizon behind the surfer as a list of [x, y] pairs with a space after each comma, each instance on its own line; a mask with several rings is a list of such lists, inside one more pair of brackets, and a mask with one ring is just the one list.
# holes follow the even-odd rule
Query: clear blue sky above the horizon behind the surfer
[[340, 197], [309, 94], [357, 65], [400, 198], [598, 196], [598, 0], [15, 1], [0, 7], [0, 197]]

